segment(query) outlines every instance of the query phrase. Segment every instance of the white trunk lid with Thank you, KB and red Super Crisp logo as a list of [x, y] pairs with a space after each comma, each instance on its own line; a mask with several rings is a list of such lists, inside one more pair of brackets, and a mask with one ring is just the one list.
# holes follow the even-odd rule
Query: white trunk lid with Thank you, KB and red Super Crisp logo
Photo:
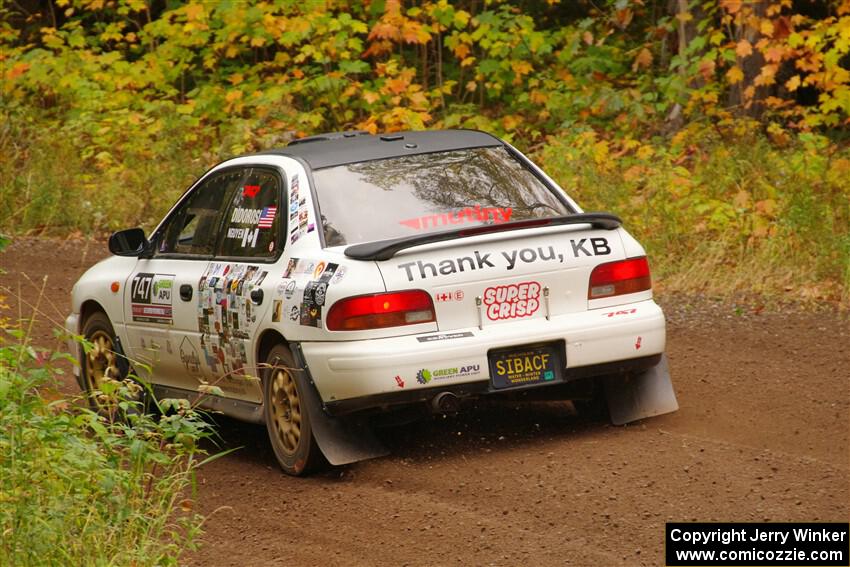
[[618, 231], [585, 225], [429, 244], [377, 265], [387, 290], [427, 291], [449, 331], [585, 311], [591, 270], [623, 258]]

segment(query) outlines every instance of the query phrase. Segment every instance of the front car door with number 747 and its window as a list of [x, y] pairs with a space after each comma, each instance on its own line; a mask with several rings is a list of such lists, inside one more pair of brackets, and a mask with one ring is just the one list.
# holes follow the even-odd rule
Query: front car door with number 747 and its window
[[186, 390], [211, 378], [200, 344], [198, 285], [243, 174], [225, 170], [194, 187], [151, 237], [152, 256], [136, 264], [124, 305], [129, 350], [140, 377]]

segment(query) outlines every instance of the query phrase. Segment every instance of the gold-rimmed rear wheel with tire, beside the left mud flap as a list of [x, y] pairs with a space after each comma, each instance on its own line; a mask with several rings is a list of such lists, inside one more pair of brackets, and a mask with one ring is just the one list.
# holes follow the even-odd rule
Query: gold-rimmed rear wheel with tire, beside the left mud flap
[[286, 474], [307, 474], [321, 464], [322, 452], [303, 396], [309, 387], [304, 373], [289, 349], [277, 345], [266, 357], [263, 374], [263, 411], [277, 462]]

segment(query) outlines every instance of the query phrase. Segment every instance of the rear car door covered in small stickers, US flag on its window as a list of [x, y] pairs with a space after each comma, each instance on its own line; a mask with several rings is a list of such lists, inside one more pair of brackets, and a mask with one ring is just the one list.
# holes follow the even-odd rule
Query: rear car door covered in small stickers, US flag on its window
[[[201, 358], [212, 383], [231, 398], [259, 402], [257, 328], [273, 304], [276, 278], [267, 277], [283, 250], [281, 173], [248, 167], [226, 203], [215, 257], [200, 277], [197, 302]], [[182, 340], [182, 339], [181, 339]]]

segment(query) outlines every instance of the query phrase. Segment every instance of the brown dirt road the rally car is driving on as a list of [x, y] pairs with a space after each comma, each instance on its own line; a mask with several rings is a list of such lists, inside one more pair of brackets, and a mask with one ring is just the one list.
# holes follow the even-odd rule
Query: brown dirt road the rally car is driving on
[[[103, 243], [25, 240], [0, 285], [57, 318]], [[55, 304], [55, 310], [49, 303]], [[10, 298], [13, 312], [19, 301]], [[382, 431], [392, 455], [306, 479], [265, 430], [199, 475], [191, 565], [663, 565], [667, 521], [850, 518], [850, 323], [662, 297], [681, 409], [613, 427], [567, 403], [485, 403]], [[36, 340], [53, 344], [50, 326]], [[69, 389], [72, 386], [66, 384]]]

